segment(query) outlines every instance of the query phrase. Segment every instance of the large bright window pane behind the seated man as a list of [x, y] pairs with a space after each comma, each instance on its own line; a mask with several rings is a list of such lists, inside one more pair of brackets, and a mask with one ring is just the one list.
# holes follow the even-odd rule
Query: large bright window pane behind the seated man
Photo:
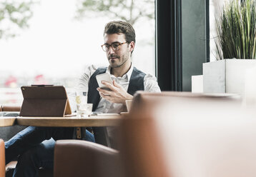
[[21, 86], [73, 88], [87, 66], [107, 66], [101, 45], [113, 20], [134, 26], [132, 62], [154, 75], [154, 1], [0, 0], [0, 104], [21, 103]]

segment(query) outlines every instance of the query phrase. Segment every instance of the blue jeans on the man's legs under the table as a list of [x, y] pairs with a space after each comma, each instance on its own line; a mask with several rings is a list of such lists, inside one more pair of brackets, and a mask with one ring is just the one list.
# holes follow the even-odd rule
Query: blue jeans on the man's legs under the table
[[[38, 176], [40, 167], [53, 169], [55, 141], [73, 137], [74, 128], [29, 126], [5, 142], [6, 163], [19, 156], [13, 176]], [[94, 142], [92, 133], [85, 140]]]

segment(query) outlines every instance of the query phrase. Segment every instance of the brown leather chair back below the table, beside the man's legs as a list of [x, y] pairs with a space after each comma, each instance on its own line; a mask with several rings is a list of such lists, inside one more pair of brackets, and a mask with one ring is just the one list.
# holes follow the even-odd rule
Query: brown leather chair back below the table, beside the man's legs
[[119, 152], [81, 140], [56, 141], [54, 177], [122, 177]]

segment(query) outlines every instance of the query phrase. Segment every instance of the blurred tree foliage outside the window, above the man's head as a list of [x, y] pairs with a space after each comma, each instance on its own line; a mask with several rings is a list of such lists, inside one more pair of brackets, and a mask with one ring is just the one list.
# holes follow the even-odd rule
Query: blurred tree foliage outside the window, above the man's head
[[77, 19], [96, 12], [136, 24], [139, 19], [154, 19], [154, 0], [78, 0]]

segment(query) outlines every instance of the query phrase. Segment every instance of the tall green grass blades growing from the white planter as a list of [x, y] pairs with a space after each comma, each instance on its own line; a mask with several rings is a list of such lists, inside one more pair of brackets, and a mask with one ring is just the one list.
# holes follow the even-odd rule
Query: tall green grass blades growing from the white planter
[[220, 59], [256, 59], [256, 1], [232, 0], [217, 22]]

